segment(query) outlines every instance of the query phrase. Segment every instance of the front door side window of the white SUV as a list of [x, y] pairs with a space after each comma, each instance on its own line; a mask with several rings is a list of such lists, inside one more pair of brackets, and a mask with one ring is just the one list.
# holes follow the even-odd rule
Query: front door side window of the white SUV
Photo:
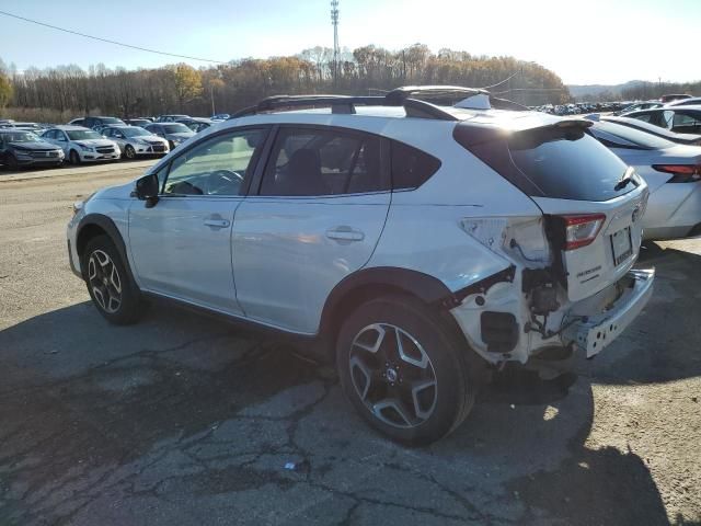
[[239, 132], [187, 150], [173, 160], [163, 194], [240, 195], [265, 135], [261, 129]]

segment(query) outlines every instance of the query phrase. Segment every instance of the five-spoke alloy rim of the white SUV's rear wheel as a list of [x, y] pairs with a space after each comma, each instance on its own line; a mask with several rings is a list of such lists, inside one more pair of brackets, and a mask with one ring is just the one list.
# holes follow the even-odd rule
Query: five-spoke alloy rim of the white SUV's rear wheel
[[389, 323], [367, 325], [353, 340], [348, 356], [353, 387], [377, 419], [411, 428], [430, 418], [438, 398], [436, 373], [410, 333]]

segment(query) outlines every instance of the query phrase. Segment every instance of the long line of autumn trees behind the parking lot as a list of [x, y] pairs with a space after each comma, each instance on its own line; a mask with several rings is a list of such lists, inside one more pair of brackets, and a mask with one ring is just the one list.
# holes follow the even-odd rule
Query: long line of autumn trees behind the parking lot
[[57, 118], [231, 113], [274, 94], [368, 94], [406, 84], [497, 84], [493, 93], [525, 104], [570, 100], [562, 80], [536, 62], [451, 49], [433, 53], [423, 44], [394, 52], [363, 46], [344, 50], [337, 61], [331, 49], [317, 46], [295, 56], [245, 58], [199, 69], [185, 64], [137, 70], [68, 65], [18, 72], [0, 60], [0, 108], [8, 106], [3, 113], [38, 108]]

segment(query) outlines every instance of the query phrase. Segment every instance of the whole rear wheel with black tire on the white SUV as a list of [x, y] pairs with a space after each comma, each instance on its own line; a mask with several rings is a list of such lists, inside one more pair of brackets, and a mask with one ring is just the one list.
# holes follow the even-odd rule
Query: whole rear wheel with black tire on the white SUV
[[[384, 338], [392, 333], [386, 344]], [[376, 335], [381, 345], [368, 352]], [[392, 343], [398, 340], [403, 342], [404, 358]], [[384, 351], [383, 345], [388, 345]], [[407, 356], [421, 364], [407, 363]], [[480, 384], [480, 361], [446, 320], [404, 295], [388, 295], [360, 305], [343, 323], [336, 344], [336, 367], [350, 403], [370, 426], [412, 446], [446, 436], [467, 418]], [[430, 386], [432, 374], [435, 387], [418, 391], [410, 387]], [[393, 400], [407, 403], [397, 407]]]

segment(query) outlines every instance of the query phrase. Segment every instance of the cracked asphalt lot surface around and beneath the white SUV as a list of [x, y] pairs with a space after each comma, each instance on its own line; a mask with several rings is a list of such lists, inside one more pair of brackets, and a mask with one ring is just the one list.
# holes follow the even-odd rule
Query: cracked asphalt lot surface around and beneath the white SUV
[[97, 315], [70, 203], [139, 170], [0, 175], [0, 525], [701, 524], [701, 241], [645, 249], [654, 297], [601, 356], [505, 370], [411, 449], [289, 343], [157, 304]]

